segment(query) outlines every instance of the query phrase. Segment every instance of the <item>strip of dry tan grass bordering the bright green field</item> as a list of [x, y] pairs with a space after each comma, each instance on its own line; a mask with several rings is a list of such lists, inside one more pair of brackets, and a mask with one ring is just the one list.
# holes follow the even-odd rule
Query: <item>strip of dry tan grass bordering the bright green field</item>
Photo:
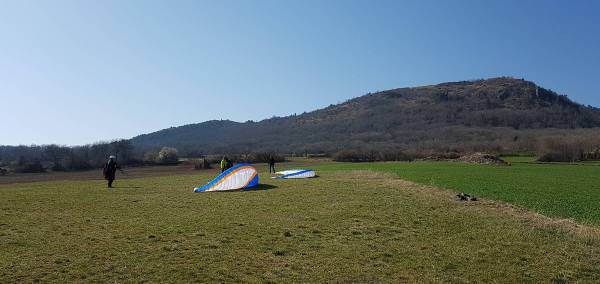
[[600, 228], [580, 224], [573, 219], [548, 217], [526, 208], [479, 197], [478, 201], [460, 202], [456, 198], [456, 192], [406, 181], [391, 173], [367, 170], [352, 171], [349, 173], [345, 172], [343, 175], [339, 176], [339, 180], [348, 179], [356, 180], [356, 182], [360, 182], [360, 180], [368, 180], [370, 182], [379, 181], [381, 186], [384, 187], [416, 191], [418, 192], [416, 196], [419, 196], [420, 198], [435, 198], [447, 203], [455, 203], [456, 206], [451, 206], [450, 210], [512, 217], [527, 223], [531, 227], [552, 228], [575, 234], [578, 237], [595, 240], [600, 239]]

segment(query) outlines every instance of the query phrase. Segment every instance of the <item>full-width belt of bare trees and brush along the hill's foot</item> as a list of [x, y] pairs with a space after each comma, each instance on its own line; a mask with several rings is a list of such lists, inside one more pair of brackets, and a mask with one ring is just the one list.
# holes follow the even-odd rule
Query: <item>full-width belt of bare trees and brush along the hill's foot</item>
[[[344, 145], [328, 145], [327, 142], [321, 142], [303, 145], [297, 148], [299, 151], [286, 152], [286, 155], [317, 154], [340, 162], [411, 161], [428, 157], [459, 157], [472, 152], [530, 154], [536, 155], [543, 162], [600, 159], [600, 129], [487, 131], [480, 130], [473, 135], [472, 129], [440, 129], [435, 132], [436, 136], [441, 135], [445, 139], [423, 135], [419, 141], [406, 144], [392, 143], [376, 137], [367, 141], [356, 139]], [[244, 152], [246, 147], [229, 145], [223, 146], [218, 153], [227, 153], [228, 158], [234, 162], [264, 163], [270, 157], [275, 157], [278, 162], [285, 160], [284, 155], [273, 154], [275, 149], [269, 149], [266, 145], [256, 148], [256, 151]], [[224, 155], [215, 152], [209, 155], [200, 154], [206, 151], [203, 147], [188, 146], [182, 149], [181, 151], [174, 147], [162, 147], [140, 152], [130, 140], [74, 147], [54, 144], [0, 146], [0, 169], [1, 174], [6, 174], [8, 170], [20, 173], [90, 170], [102, 167], [109, 155], [115, 155], [118, 162], [126, 166], [177, 164], [180, 156], [202, 158], [190, 161], [200, 163], [194, 164], [194, 168], [200, 169], [210, 168], [210, 164], [218, 163]]]

